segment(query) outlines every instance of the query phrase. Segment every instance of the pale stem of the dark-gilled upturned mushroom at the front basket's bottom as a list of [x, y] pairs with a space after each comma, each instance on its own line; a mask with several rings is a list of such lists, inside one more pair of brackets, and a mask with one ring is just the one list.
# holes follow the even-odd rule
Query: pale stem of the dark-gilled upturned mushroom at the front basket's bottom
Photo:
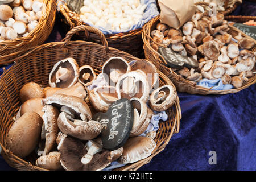
[[93, 142], [92, 140], [89, 140], [85, 146], [88, 152], [82, 157], [81, 162], [83, 164], [88, 164], [90, 160], [92, 160], [93, 155], [100, 152], [102, 148], [99, 144]]

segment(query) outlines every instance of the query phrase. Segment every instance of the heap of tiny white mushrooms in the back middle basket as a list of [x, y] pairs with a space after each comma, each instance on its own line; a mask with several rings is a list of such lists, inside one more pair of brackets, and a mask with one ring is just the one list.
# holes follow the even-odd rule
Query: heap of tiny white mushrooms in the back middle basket
[[146, 7], [139, 0], [84, 0], [79, 16], [83, 22], [106, 30], [125, 31], [139, 22]]

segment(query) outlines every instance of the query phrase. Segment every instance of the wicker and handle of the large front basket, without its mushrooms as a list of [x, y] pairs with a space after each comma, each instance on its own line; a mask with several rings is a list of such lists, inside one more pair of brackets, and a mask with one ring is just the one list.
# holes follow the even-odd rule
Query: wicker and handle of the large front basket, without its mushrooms
[[[94, 32], [94, 34], [100, 36], [105, 46], [85, 41], [71, 42], [71, 36], [79, 31]], [[79, 65], [89, 64], [98, 75], [101, 72], [104, 61], [112, 56], [121, 56], [128, 61], [139, 60], [126, 52], [108, 48], [108, 42], [106, 42], [104, 35], [100, 31], [96, 28], [82, 25], [69, 31], [64, 42], [52, 42], [37, 46], [34, 49], [28, 49], [26, 54], [15, 59], [16, 63], [0, 79], [0, 145], [2, 147], [2, 156], [11, 167], [19, 170], [44, 170], [33, 165], [36, 154], [31, 154], [21, 159], [5, 148], [6, 135], [14, 122], [13, 117], [21, 105], [19, 100], [20, 88], [27, 82], [37, 82], [43, 87], [47, 86], [49, 72], [51, 72], [53, 65], [65, 57], [73, 57]], [[173, 85], [163, 73], [159, 72], [159, 85], [166, 84]], [[149, 163], [160, 151], [164, 150], [172, 135], [179, 133], [181, 110], [178, 97], [175, 104], [167, 110], [167, 114], [168, 120], [159, 122], [159, 130], [155, 138], [156, 148], [152, 155], [138, 162], [126, 164], [126, 166], [116, 170], [137, 170], [144, 164]]]

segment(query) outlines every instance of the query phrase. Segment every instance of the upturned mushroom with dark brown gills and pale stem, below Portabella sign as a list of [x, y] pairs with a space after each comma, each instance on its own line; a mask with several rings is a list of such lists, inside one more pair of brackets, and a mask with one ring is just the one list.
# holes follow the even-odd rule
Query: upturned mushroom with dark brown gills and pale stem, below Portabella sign
[[119, 158], [123, 148], [108, 151], [92, 140], [86, 144], [80, 140], [63, 135], [58, 145], [61, 166], [67, 171], [98, 171], [109, 166]]

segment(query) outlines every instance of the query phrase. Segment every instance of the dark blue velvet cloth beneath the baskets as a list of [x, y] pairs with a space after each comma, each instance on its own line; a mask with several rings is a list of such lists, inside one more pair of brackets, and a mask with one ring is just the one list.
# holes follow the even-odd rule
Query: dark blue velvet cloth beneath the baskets
[[[255, 16], [256, 3], [243, 1], [232, 15]], [[47, 42], [65, 37], [57, 16]], [[10, 68], [10, 65], [6, 69]], [[0, 68], [0, 75], [3, 69]], [[217, 96], [178, 93], [180, 132], [139, 170], [256, 170], [255, 84], [241, 92]], [[217, 164], [208, 163], [216, 151]], [[15, 170], [0, 155], [0, 170]]]

